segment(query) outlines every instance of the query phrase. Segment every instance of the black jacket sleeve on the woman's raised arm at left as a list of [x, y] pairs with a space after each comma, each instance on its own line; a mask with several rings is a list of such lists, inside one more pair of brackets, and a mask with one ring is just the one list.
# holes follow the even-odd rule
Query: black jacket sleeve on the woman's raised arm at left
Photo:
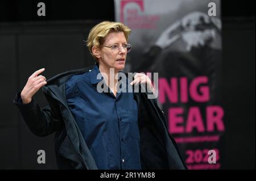
[[23, 104], [20, 92], [16, 94], [14, 104], [18, 107], [30, 131], [36, 136], [44, 137], [60, 129], [61, 121], [57, 119], [51, 107], [46, 106], [42, 110], [34, 99], [28, 104]]

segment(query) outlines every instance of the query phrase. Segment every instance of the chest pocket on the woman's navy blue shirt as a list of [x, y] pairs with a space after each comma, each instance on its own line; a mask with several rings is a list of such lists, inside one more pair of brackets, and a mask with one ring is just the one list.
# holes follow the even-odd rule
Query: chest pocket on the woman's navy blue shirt
[[139, 139], [138, 111], [127, 111], [129, 117], [130, 136]]

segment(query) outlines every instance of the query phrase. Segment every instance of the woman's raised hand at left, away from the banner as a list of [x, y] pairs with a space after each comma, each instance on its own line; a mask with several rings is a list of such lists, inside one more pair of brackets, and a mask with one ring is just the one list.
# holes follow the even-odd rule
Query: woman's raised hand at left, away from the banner
[[27, 80], [26, 86], [24, 86], [20, 97], [22, 98], [23, 104], [28, 104], [32, 100], [32, 96], [44, 85], [47, 84], [46, 78], [43, 75], [39, 75], [45, 69], [36, 70]]

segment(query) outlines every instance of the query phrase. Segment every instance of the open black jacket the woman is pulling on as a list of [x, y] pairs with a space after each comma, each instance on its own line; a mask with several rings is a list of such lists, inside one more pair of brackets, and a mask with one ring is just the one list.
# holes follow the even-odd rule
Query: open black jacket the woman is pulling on
[[[43, 137], [56, 132], [55, 152], [59, 169], [97, 169], [65, 97], [65, 82], [72, 75], [92, 68], [71, 70], [48, 79], [43, 92], [49, 105], [43, 110], [34, 99], [22, 104], [20, 92], [14, 99], [32, 133]], [[168, 133], [167, 122], [156, 100], [148, 99], [142, 92], [134, 93], [134, 99], [138, 104], [142, 169], [187, 169], [175, 140]]]

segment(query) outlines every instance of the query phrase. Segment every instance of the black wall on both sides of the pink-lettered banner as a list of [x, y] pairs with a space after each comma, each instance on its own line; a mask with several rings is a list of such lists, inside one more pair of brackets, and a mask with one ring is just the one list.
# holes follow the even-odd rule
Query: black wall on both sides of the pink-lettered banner
[[[202, 0], [203, 1], [203, 0]], [[92, 65], [82, 43], [90, 28], [114, 20], [113, 1], [0, 1], [0, 169], [56, 169], [54, 134], [40, 138], [13, 104], [35, 70], [57, 73]], [[222, 102], [226, 131], [220, 144], [222, 169], [255, 169], [255, 1], [222, 1]], [[41, 91], [40, 106], [47, 102]], [[46, 164], [38, 164], [38, 150]]]

